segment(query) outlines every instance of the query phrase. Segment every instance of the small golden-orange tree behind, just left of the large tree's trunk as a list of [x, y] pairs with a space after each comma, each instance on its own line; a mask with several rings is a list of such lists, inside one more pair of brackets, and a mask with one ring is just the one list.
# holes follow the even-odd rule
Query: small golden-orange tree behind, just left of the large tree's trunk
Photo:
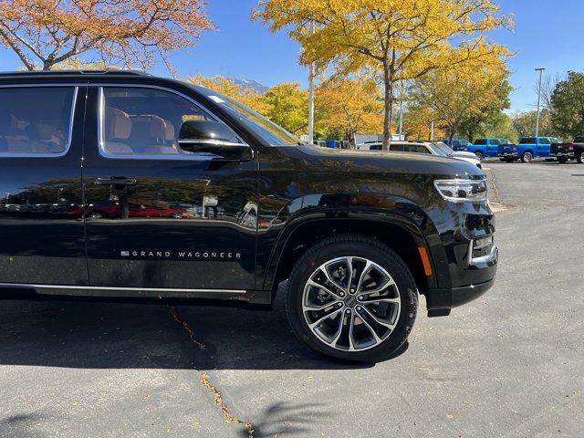
[[330, 78], [316, 92], [318, 126], [342, 132], [355, 142], [357, 133], [375, 133], [383, 128], [383, 101], [377, 84], [368, 77]]

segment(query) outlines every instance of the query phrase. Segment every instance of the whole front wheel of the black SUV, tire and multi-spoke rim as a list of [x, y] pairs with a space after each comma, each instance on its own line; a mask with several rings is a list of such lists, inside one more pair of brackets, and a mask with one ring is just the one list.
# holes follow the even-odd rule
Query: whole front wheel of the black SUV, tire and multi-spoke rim
[[408, 338], [417, 308], [408, 266], [388, 246], [361, 235], [312, 246], [288, 284], [287, 315], [298, 339], [341, 360], [389, 359]]

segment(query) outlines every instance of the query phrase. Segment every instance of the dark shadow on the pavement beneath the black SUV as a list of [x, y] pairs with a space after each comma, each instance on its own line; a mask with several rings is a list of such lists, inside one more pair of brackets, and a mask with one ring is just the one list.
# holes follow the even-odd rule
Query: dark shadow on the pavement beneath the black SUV
[[[273, 311], [92, 301], [0, 301], [0, 365], [93, 369], [350, 370], [305, 347]], [[408, 348], [404, 345], [395, 356]]]

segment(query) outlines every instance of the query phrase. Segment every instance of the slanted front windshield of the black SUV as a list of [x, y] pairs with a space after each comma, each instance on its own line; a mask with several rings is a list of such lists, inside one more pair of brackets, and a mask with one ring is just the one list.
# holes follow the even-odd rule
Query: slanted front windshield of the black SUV
[[204, 87], [196, 87], [196, 89], [207, 98], [223, 106], [224, 110], [227, 110], [240, 123], [244, 124], [245, 128], [252, 130], [266, 143], [273, 146], [304, 144], [296, 135], [276, 125], [276, 123], [262, 116], [259, 112], [246, 107], [243, 103], [217, 93], [213, 89], [205, 89]]

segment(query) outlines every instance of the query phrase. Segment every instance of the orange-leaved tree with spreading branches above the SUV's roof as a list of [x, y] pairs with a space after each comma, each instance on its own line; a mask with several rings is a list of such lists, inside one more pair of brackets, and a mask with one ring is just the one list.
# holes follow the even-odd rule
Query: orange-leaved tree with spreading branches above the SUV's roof
[[148, 68], [156, 55], [192, 47], [214, 25], [203, 0], [2, 0], [0, 46], [24, 66], [51, 69], [71, 57]]

